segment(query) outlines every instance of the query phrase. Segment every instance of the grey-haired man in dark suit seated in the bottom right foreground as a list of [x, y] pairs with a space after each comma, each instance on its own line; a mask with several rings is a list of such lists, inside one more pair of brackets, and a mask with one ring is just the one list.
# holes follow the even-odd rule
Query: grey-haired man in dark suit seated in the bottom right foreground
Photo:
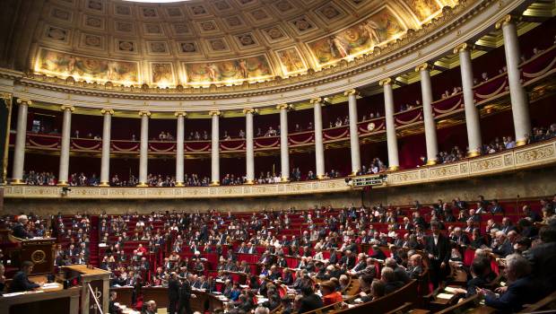
[[509, 284], [506, 289], [497, 289], [500, 297], [489, 290], [481, 290], [487, 306], [501, 312], [517, 312], [522, 310], [524, 304], [533, 304], [543, 298], [543, 293], [531, 277], [531, 265], [526, 257], [518, 254], [508, 256], [504, 272]]

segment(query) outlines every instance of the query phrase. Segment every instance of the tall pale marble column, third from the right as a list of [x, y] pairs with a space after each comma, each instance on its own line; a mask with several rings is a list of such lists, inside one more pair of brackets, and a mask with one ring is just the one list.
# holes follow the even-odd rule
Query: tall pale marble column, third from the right
[[437, 125], [432, 113], [432, 89], [430, 88], [430, 65], [422, 64], [415, 68], [421, 75], [422, 114], [425, 124], [425, 143], [427, 145], [427, 165], [437, 163], [439, 144], [437, 141]]

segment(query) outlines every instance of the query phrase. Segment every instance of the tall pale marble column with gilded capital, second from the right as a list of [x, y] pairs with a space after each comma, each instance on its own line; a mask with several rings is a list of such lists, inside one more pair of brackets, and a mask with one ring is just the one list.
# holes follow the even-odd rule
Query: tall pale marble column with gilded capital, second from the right
[[467, 156], [475, 157], [481, 154], [481, 116], [475, 106], [473, 93], [473, 66], [471, 65], [471, 51], [466, 43], [454, 49], [459, 54], [459, 65], [462, 75], [462, 90], [465, 105], [465, 126], [467, 127]]

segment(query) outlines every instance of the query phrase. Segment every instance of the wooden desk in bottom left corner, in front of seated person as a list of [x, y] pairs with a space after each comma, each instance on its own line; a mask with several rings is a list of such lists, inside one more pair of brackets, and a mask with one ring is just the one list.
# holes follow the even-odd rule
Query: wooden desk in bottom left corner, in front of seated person
[[11, 297], [0, 296], [0, 313], [41, 314], [79, 313], [81, 289], [74, 287], [53, 292], [25, 292]]

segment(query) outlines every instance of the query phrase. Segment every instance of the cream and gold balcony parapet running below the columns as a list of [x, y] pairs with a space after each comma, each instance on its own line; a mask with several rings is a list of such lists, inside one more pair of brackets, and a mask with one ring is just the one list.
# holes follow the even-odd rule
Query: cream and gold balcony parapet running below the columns
[[[387, 172], [387, 180], [374, 188], [430, 184], [455, 179], [471, 179], [534, 169], [556, 164], [556, 139], [512, 150], [468, 158], [410, 170]], [[373, 175], [377, 176], [377, 175]], [[372, 176], [363, 176], [372, 177]], [[244, 185], [207, 188], [80, 188], [73, 187], [62, 196], [59, 187], [6, 186], [5, 198], [67, 198], [67, 199], [204, 199], [213, 197], [290, 196], [315, 193], [344, 193], [351, 190], [344, 179], [291, 182], [268, 185]]]

